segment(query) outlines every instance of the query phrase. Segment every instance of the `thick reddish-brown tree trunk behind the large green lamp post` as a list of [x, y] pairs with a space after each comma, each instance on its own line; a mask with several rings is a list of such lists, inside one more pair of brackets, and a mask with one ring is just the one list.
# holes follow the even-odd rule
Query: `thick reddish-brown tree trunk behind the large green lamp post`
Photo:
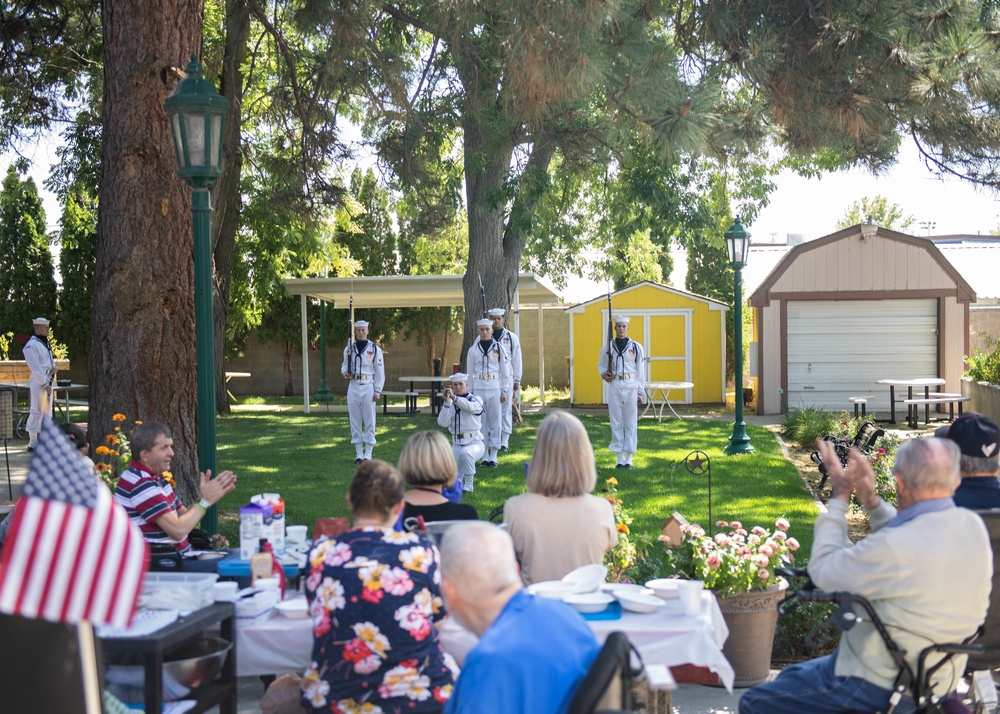
[[181, 498], [198, 490], [191, 191], [163, 109], [201, 49], [202, 0], [105, 0], [104, 153], [94, 271], [90, 428], [173, 432]]

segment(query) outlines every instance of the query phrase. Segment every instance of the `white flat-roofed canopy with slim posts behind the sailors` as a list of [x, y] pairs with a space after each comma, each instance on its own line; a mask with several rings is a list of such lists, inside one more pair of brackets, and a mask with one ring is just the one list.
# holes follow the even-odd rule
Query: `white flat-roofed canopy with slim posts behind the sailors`
[[[309, 333], [306, 329], [306, 306], [309, 298], [325, 300], [335, 308], [346, 308], [354, 296], [354, 307], [440, 307], [464, 305], [464, 275], [387, 275], [357, 278], [286, 278], [288, 292], [302, 297], [302, 399], [309, 413]], [[538, 384], [545, 402], [545, 341], [542, 339], [542, 306], [559, 304], [555, 289], [534, 273], [520, 273], [514, 292], [512, 329], [518, 331], [520, 305], [538, 307], [539, 355]]]

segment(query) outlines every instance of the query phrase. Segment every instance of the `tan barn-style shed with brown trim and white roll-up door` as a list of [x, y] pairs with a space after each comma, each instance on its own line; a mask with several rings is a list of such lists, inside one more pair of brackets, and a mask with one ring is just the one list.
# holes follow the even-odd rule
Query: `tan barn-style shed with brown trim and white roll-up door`
[[975, 292], [930, 240], [862, 228], [795, 246], [750, 295], [758, 413], [839, 411], [852, 396], [888, 412], [880, 379], [961, 391]]

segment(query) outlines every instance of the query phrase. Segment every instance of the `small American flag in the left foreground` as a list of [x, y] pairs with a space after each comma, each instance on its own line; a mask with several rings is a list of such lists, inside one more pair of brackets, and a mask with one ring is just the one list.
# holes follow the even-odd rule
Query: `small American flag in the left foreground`
[[0, 559], [0, 612], [126, 626], [146, 543], [93, 467], [45, 418]]

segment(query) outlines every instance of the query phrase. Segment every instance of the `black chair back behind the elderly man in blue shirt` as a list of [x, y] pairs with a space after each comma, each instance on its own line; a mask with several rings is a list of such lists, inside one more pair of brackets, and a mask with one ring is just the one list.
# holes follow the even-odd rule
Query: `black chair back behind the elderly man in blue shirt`
[[611, 714], [634, 711], [632, 680], [642, 671], [632, 668], [632, 643], [612, 632], [590, 665], [569, 704], [569, 714]]

